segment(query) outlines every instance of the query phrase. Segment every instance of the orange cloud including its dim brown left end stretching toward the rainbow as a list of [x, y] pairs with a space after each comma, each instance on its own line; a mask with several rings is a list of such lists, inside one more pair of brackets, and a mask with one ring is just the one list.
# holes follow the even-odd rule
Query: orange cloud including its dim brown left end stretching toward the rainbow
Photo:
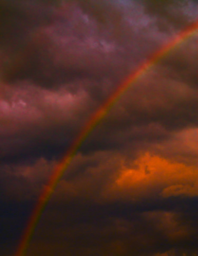
[[[97, 158], [98, 164], [82, 169], [70, 179], [59, 182], [53, 195], [54, 200], [84, 198], [93, 201], [137, 202], [173, 196], [198, 196], [198, 172], [196, 165], [187, 165], [171, 158], [149, 152], [131, 161], [127, 167], [122, 155], [96, 153], [83, 158], [77, 155], [71, 168], [84, 169], [86, 162]], [[94, 161], [93, 161], [94, 162]]]

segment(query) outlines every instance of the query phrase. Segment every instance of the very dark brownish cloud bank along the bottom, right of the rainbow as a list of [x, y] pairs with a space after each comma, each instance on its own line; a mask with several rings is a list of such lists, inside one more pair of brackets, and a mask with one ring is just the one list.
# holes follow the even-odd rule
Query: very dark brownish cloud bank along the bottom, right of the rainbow
[[[196, 228], [184, 224], [186, 218], [193, 216], [190, 211], [184, 218], [176, 211], [139, 211], [138, 206], [126, 204], [80, 202], [67, 204], [67, 209], [58, 207], [51, 206], [44, 213], [29, 255], [55, 252], [80, 255], [82, 251], [85, 255], [163, 255], [171, 250], [182, 255], [197, 251]], [[41, 237], [43, 244], [39, 242]], [[49, 241], [53, 241], [53, 248]]]

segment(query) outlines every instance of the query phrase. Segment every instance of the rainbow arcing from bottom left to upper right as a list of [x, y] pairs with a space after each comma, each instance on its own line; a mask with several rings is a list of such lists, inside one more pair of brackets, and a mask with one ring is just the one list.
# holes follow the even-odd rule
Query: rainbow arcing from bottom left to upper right
[[33, 234], [34, 228], [37, 222], [40, 219], [42, 211], [48, 202], [56, 184], [59, 182], [61, 176], [64, 171], [67, 169], [68, 165], [72, 161], [74, 155], [76, 155], [78, 149], [84, 142], [84, 140], [88, 137], [91, 131], [97, 126], [100, 120], [106, 115], [106, 113], [110, 110], [112, 105], [114, 105], [121, 95], [126, 92], [129, 86], [132, 83], [135, 83], [137, 79], [143, 75], [150, 67], [155, 65], [157, 61], [159, 61], [163, 56], [165, 56], [169, 50], [171, 50], [178, 43], [182, 42], [184, 39], [192, 36], [196, 30], [198, 29], [198, 21], [192, 23], [187, 28], [185, 28], [182, 32], [178, 33], [176, 37], [174, 37], [171, 41], [169, 41], [165, 46], [156, 51], [150, 58], [148, 58], [142, 65], [140, 65], [135, 72], [130, 74], [126, 80], [120, 84], [114, 93], [110, 95], [110, 97], [100, 106], [100, 108], [91, 115], [89, 121], [82, 128], [77, 138], [74, 140], [67, 153], [63, 157], [62, 161], [55, 167], [52, 172], [48, 183], [43, 188], [39, 199], [37, 200], [36, 206], [32, 211], [29, 222], [24, 230], [24, 234], [21, 238], [21, 241], [18, 245], [15, 256], [25, 255], [25, 251], [27, 246], [29, 245], [31, 236]]

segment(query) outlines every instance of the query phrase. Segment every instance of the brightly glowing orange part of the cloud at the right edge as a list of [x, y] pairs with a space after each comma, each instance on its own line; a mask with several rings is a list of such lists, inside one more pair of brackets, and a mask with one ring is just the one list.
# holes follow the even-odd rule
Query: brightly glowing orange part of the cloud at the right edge
[[104, 195], [132, 201], [158, 196], [198, 196], [197, 178], [196, 166], [146, 153], [134, 162], [133, 169], [124, 167]]

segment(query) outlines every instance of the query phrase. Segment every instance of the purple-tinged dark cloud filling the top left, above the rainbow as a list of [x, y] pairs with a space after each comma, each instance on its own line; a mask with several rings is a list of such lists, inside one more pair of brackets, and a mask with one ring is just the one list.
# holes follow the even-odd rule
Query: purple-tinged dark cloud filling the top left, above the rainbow
[[[15, 47], [8, 43], [12, 49], [4, 52], [2, 77], [5, 81], [28, 79], [39, 86], [54, 87], [83, 77], [100, 80], [102, 76], [118, 82], [137, 61], [156, 48], [157, 40], [167, 37], [156, 31], [157, 24], [152, 28], [153, 17], [146, 16], [135, 2], [128, 3], [128, 10], [118, 3], [77, 2], [77, 5], [65, 3], [56, 8], [36, 2], [27, 2], [25, 8], [19, 2], [15, 15], [12, 15], [14, 7], [7, 7], [16, 21], [10, 21], [7, 16], [6, 19], [19, 30], [15, 29], [11, 34], [21, 41], [15, 43]], [[119, 10], [120, 19], [115, 14], [116, 10]], [[95, 11], [105, 17], [102, 20], [106, 19], [102, 28], [98, 27]], [[26, 12], [31, 12], [33, 17]], [[21, 23], [26, 29], [23, 29], [17, 15], [24, 16]], [[146, 28], [151, 31], [147, 33]], [[12, 42], [9, 28], [7, 30], [6, 36]], [[143, 33], [139, 33], [140, 30]], [[150, 33], [152, 38], [149, 38]], [[144, 45], [141, 50], [139, 44]]]

